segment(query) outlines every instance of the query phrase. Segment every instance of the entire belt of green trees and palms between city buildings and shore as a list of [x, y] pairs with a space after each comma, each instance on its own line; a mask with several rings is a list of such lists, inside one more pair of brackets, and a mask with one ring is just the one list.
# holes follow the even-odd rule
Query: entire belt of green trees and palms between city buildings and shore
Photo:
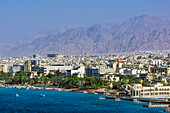
[[[67, 76], [56, 76], [49, 73], [48, 75], [42, 75], [41, 77], [30, 78], [24, 71], [18, 71], [13, 76], [13, 73], [0, 72], [0, 81], [4, 81], [6, 84], [31, 84], [39, 86], [57, 86], [65, 88], [109, 88], [112, 83], [114, 89], [121, 89], [125, 84], [142, 83], [143, 85], [149, 85], [147, 80], [142, 80], [139, 77], [130, 75], [120, 75], [118, 82], [104, 81], [100, 77], [67, 77]], [[153, 83], [162, 82], [161, 79], [153, 81]]]

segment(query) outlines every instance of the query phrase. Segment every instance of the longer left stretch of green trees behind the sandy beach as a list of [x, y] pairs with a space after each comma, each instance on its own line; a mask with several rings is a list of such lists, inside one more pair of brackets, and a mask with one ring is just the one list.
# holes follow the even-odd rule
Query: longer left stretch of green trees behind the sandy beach
[[108, 87], [109, 82], [102, 80], [100, 77], [67, 77], [56, 76], [49, 73], [41, 77], [30, 78], [24, 71], [18, 71], [13, 76], [12, 73], [0, 72], [0, 80], [6, 84], [31, 84], [40, 86], [58, 86], [65, 88], [101, 88]]

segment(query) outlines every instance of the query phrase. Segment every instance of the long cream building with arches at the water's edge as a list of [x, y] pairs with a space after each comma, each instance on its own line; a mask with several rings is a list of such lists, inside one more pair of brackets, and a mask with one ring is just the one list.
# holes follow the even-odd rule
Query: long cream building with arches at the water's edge
[[157, 83], [150, 86], [132, 84], [130, 88], [131, 97], [137, 98], [170, 98], [170, 86]]

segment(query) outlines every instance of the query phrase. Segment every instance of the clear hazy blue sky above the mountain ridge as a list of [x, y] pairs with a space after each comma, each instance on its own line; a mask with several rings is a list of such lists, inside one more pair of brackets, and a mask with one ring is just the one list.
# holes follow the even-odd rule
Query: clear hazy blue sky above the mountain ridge
[[140, 15], [170, 17], [170, 0], [0, 0], [0, 43], [44, 29], [123, 22]]

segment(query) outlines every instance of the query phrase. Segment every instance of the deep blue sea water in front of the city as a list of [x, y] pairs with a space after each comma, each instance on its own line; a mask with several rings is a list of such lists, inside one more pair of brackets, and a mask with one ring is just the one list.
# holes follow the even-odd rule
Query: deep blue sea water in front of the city
[[[16, 97], [19, 94], [19, 97]], [[40, 97], [45, 94], [45, 97]], [[99, 100], [101, 95], [53, 90], [0, 88], [0, 113], [160, 113], [166, 108], [147, 108], [144, 102]]]

